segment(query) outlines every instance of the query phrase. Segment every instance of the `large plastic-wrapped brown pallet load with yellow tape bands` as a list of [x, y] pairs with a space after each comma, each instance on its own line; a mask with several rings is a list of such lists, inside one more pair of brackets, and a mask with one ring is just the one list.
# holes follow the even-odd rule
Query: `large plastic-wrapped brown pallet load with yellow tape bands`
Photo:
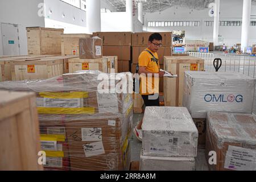
[[[129, 89], [130, 74], [83, 71], [46, 80], [0, 82], [0, 89], [36, 92], [46, 169], [125, 170], [130, 166], [133, 98], [110, 86]], [[109, 77], [103, 88], [110, 88], [110, 93], [98, 92], [102, 76]]]

